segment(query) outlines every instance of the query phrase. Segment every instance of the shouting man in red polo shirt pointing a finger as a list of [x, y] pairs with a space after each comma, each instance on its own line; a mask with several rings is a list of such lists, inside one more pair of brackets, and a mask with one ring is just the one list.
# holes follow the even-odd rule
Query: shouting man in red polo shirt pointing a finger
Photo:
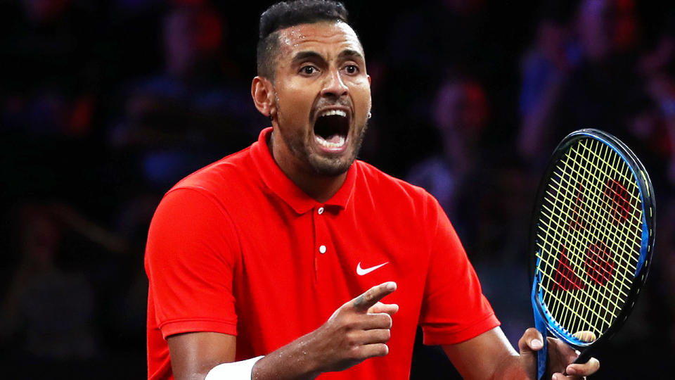
[[[371, 79], [345, 8], [271, 6], [258, 74], [272, 127], [153, 217], [148, 377], [406, 379], [418, 324], [468, 379], [534, 376], [541, 335], [515, 353], [437, 201], [355, 160]], [[598, 368], [549, 347], [555, 371]]]

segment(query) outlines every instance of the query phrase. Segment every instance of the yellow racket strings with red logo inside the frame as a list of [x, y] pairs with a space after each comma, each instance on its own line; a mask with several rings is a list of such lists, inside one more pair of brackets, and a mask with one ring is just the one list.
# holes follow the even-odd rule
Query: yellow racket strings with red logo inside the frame
[[624, 160], [590, 139], [572, 146], [549, 182], [537, 274], [548, 312], [570, 334], [599, 336], [625, 303], [642, 234], [634, 183]]

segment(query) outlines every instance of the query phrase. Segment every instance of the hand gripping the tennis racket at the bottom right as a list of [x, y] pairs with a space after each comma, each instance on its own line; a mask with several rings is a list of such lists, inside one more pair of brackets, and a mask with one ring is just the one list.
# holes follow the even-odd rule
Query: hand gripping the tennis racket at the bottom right
[[[547, 338], [547, 342], [548, 372], [544, 374], [544, 379], [584, 379], [584, 376], [594, 374], [600, 369], [600, 362], [595, 357], [591, 357], [584, 364], [571, 364], [579, 356], [573, 348], [556, 338]], [[530, 379], [536, 379], [536, 351], [543, 347], [541, 333], [534, 327], [527, 329], [518, 341], [521, 364]]]

